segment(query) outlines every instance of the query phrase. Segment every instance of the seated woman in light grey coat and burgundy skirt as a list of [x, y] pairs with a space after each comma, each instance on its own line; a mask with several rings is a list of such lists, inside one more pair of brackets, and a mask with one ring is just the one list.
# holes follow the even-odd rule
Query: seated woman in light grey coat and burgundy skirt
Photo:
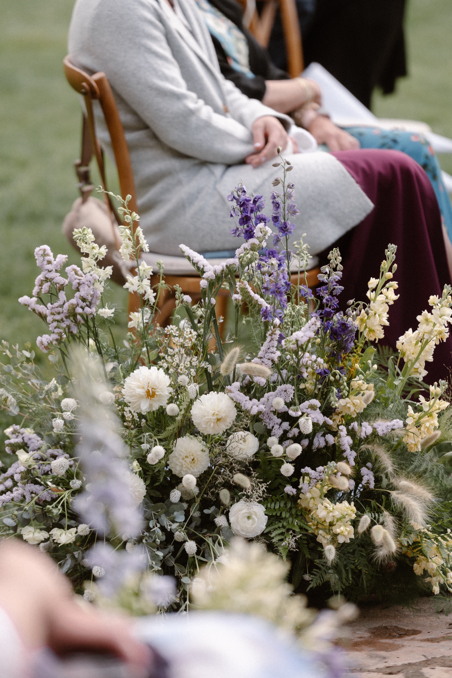
[[[293, 164], [300, 210], [293, 238], [306, 233], [316, 255], [349, 237], [345, 302], [364, 298], [394, 240], [406, 245], [402, 287], [415, 300], [399, 302], [400, 334], [450, 281], [438, 203], [419, 165], [397, 151], [293, 153], [291, 119], [223, 77], [194, 0], [77, 0], [69, 54], [86, 71], [104, 71], [112, 85], [151, 252], [178, 256], [184, 243], [207, 256], [230, 256], [240, 243], [230, 234], [226, 197], [243, 181], [269, 204], [280, 173], [272, 159], [281, 146]], [[98, 129], [108, 151], [100, 114]], [[397, 254], [400, 268], [404, 255]], [[370, 266], [375, 256], [377, 268]]]

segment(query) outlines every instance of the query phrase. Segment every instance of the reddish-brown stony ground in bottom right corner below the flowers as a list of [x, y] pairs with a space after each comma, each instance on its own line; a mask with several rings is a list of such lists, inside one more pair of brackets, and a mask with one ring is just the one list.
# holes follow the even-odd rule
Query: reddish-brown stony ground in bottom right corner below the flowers
[[361, 610], [342, 641], [350, 678], [452, 678], [452, 614], [434, 598]]

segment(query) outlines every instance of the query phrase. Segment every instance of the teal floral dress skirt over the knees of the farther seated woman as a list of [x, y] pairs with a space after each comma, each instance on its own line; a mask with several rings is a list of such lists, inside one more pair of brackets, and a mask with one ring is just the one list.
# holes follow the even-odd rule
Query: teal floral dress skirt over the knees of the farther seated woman
[[449, 239], [452, 241], [452, 205], [441, 178], [441, 168], [435, 152], [422, 134], [380, 127], [344, 127], [361, 148], [390, 148], [411, 156], [425, 170], [432, 183]]

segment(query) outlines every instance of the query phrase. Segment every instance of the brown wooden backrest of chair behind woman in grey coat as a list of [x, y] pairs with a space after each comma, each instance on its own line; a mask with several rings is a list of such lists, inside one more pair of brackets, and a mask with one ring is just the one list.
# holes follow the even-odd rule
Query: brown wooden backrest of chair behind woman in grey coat
[[123, 123], [119, 117], [118, 108], [113, 96], [110, 83], [105, 73], [94, 73], [88, 75], [85, 71], [74, 66], [70, 62], [70, 58], [66, 56], [63, 61], [64, 74], [66, 79], [76, 92], [81, 94], [85, 100], [87, 113], [87, 126], [89, 135], [91, 137], [91, 145], [96, 155], [102, 184], [106, 190], [105, 167], [102, 149], [96, 135], [96, 122], [94, 120], [93, 100], [97, 100], [102, 108], [104, 114], [108, 134], [110, 134], [110, 141], [112, 150], [115, 155], [116, 167], [119, 178], [119, 186], [121, 188], [121, 196], [131, 195], [129, 201], [129, 208], [133, 212], [138, 212], [136, 201], [135, 181], [133, 180], [133, 171], [130, 161], [129, 148], [125, 140]]

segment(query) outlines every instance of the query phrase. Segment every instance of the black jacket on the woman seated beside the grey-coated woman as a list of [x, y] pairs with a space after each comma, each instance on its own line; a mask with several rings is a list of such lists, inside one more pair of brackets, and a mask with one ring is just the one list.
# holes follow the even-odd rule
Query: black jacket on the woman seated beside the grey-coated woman
[[249, 68], [254, 73], [254, 78], [247, 78], [243, 73], [234, 71], [234, 68], [229, 65], [226, 52], [218, 39], [212, 35], [213, 45], [218, 56], [218, 63], [222, 74], [228, 80], [232, 80], [234, 85], [238, 87], [243, 94], [246, 94], [250, 99], [262, 98], [265, 94], [266, 80], [288, 80], [289, 75], [281, 68], [276, 68], [270, 61], [270, 56], [264, 47], [261, 47], [258, 41], [247, 31], [243, 26], [243, 12], [242, 6], [236, 0], [209, 0], [210, 4], [230, 19], [245, 34], [249, 49]]

